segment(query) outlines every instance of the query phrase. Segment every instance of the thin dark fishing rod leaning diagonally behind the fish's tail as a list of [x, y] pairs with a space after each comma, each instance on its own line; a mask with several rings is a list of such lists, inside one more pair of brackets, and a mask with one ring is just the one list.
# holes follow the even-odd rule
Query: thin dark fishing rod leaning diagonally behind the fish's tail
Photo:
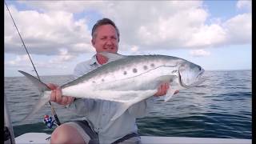
[[[5, 4], [6, 4], [6, 1], [4, 1], [4, 2], [5, 2]], [[6, 8], [7, 8], [7, 10], [9, 11], [9, 14], [10, 14], [10, 10], [9, 10], [7, 4], [6, 4]], [[14, 18], [13, 18], [13, 16], [12, 16], [11, 14], [10, 14], [10, 18], [11, 18], [11, 19], [13, 20], [13, 22], [14, 22]], [[16, 26], [16, 23], [15, 23], [15, 22], [14, 22], [14, 26], [16, 27], [16, 30], [18, 31], [18, 27]], [[22, 40], [22, 44], [23, 44], [23, 46], [24, 46], [24, 48], [25, 48], [25, 50], [26, 50], [26, 54], [27, 54], [27, 55], [29, 56], [29, 58], [30, 58], [30, 54], [29, 54], [28, 50], [26, 49], [26, 45], [25, 45], [25, 43], [24, 43], [24, 41], [23, 41], [23, 39], [22, 39], [22, 35], [19, 33], [19, 31], [18, 31], [18, 35], [19, 35], [19, 38], [21, 38], [21, 40]], [[32, 66], [34, 67], [34, 63], [33, 63], [33, 61], [32, 61], [31, 58], [30, 58], [30, 62], [32, 63]], [[42, 82], [41, 79], [40, 79], [40, 77], [39, 77], [39, 75], [38, 75], [38, 71], [35, 69], [35, 67], [34, 67], [34, 71], [35, 71], [35, 73], [36, 73], [37, 76], [38, 76], [38, 80], [39, 80], [40, 82]], [[58, 115], [57, 115], [56, 111], [54, 110], [54, 106], [51, 105], [50, 101], [49, 101], [49, 104], [50, 104], [51, 113], [54, 115], [54, 118], [55, 118], [55, 121], [57, 122], [57, 125], [60, 126], [60, 125], [61, 125], [61, 122], [59, 122]]]

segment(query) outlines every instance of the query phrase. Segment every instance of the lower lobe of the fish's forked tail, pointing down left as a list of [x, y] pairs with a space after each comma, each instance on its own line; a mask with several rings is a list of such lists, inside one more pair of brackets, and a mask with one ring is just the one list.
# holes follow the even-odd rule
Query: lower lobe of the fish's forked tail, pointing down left
[[33, 109], [26, 115], [25, 118], [22, 118], [21, 121], [24, 121], [30, 116], [34, 115], [36, 112], [38, 112], [38, 110], [42, 108], [42, 106], [44, 106], [49, 101], [50, 101], [50, 97], [48, 95], [44, 95], [40, 97], [38, 103], [34, 105]]

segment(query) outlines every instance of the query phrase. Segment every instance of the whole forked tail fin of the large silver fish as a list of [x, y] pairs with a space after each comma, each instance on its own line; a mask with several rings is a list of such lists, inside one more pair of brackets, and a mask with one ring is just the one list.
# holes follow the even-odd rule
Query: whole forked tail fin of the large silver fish
[[[38, 90], [40, 92], [40, 98], [38, 100], [38, 103], [34, 105], [34, 108], [30, 111], [29, 114], [26, 115], [25, 118], [22, 118], [22, 121], [24, 121], [26, 118], [29, 118], [31, 115], [35, 114], [38, 110], [42, 108], [47, 102], [50, 101], [50, 88], [38, 78], [35, 78], [34, 76], [27, 74], [26, 72], [22, 70], [18, 70], [18, 72], [22, 73], [26, 76], [26, 78], [30, 79], [30, 81], [35, 85], [38, 86]], [[49, 93], [46, 93], [46, 91], [49, 91]]]

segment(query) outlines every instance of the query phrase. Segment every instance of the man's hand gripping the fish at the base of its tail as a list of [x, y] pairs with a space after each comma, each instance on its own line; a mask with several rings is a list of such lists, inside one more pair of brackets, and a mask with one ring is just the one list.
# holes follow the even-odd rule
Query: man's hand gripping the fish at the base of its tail
[[62, 95], [62, 89], [53, 83], [48, 83], [47, 86], [51, 89], [50, 101], [56, 102], [59, 105], [69, 105], [74, 102], [74, 97]]

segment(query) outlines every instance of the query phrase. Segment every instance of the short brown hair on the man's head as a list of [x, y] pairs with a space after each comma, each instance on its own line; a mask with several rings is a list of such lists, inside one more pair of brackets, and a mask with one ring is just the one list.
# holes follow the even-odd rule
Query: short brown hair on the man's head
[[91, 30], [91, 36], [92, 36], [92, 38], [95, 38], [95, 36], [96, 36], [95, 30], [97, 30], [98, 26], [103, 26], [103, 25], [112, 25], [112, 26], [114, 26], [114, 29], [117, 31], [117, 34], [118, 34], [118, 42], [119, 42], [119, 36], [120, 36], [120, 34], [119, 34], [118, 27], [115, 26], [114, 22], [111, 21], [109, 18], [102, 18], [102, 19], [98, 20], [98, 21], [95, 23], [93, 29]]

